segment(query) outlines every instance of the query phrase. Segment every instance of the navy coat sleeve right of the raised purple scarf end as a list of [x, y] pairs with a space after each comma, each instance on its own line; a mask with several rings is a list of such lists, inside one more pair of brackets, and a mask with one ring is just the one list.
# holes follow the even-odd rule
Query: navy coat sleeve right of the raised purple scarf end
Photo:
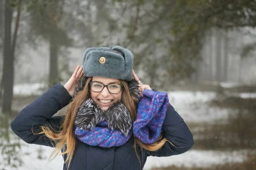
[[[182, 117], [169, 104], [166, 117], [162, 126], [163, 136], [169, 141], [156, 151], [147, 151], [147, 156], [172, 156], [185, 153], [194, 145], [194, 140], [189, 127]], [[170, 143], [171, 142], [171, 143]]]

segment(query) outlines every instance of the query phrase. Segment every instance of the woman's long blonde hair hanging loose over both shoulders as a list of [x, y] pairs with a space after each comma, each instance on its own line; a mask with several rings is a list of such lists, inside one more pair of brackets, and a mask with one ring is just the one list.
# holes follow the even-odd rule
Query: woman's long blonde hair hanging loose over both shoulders
[[[45, 134], [45, 136], [47, 136], [49, 139], [52, 139], [52, 141], [55, 142], [56, 144], [55, 149], [52, 151], [52, 154], [49, 157], [50, 161], [54, 159], [57, 155], [67, 154], [67, 159], [64, 162], [64, 163], [67, 163], [67, 169], [70, 166], [70, 162], [72, 160], [72, 157], [75, 151], [76, 138], [75, 138], [74, 122], [76, 119], [76, 112], [79, 106], [81, 106], [84, 99], [87, 99], [90, 97], [89, 82], [91, 81], [91, 79], [92, 77], [89, 77], [86, 80], [83, 90], [78, 92], [76, 96], [73, 98], [73, 101], [70, 102], [70, 106], [67, 110], [67, 113], [64, 116], [64, 122], [61, 123], [61, 127], [59, 131], [54, 130], [49, 126], [42, 125], [40, 127], [41, 132], [35, 133], [35, 134]], [[126, 106], [128, 111], [131, 113], [131, 119], [132, 119], [132, 122], [134, 122], [137, 115], [136, 105], [138, 103], [138, 99], [136, 99], [134, 96], [131, 95], [131, 93], [129, 92], [128, 83], [126, 81], [120, 80], [120, 83], [124, 87], [122, 89], [122, 102]], [[154, 150], [160, 149], [165, 144], [166, 141], [167, 141], [166, 138], [162, 138], [162, 136], [160, 136], [159, 140], [154, 144], [144, 144], [134, 136], [134, 149], [137, 157], [139, 158], [136, 150], [137, 144], [146, 150], [154, 151]], [[60, 150], [64, 147], [64, 145], [66, 145], [65, 152], [59, 154]]]

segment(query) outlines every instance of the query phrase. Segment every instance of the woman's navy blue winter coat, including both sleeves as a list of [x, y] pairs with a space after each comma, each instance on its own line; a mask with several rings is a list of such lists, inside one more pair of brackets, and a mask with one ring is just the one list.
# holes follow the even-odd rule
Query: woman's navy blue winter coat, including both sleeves
[[[48, 122], [53, 128], [59, 130], [61, 116], [53, 116], [71, 100], [67, 90], [57, 83], [46, 93], [26, 106], [12, 121], [11, 127], [14, 133], [29, 144], [41, 144], [55, 147], [54, 142], [42, 135], [34, 135], [33, 128]], [[147, 156], [172, 156], [184, 153], [192, 148], [193, 136], [186, 123], [169, 105], [166, 118], [162, 126], [164, 136], [172, 142], [166, 142], [157, 151], [143, 152], [145, 155], [143, 165], [136, 156], [134, 150], [134, 139], [131, 139], [119, 147], [102, 148], [90, 146], [76, 140], [75, 152], [69, 170], [141, 170]], [[141, 152], [139, 152], [140, 154]], [[140, 155], [141, 156], [141, 155]], [[66, 164], [64, 164], [66, 170]]]

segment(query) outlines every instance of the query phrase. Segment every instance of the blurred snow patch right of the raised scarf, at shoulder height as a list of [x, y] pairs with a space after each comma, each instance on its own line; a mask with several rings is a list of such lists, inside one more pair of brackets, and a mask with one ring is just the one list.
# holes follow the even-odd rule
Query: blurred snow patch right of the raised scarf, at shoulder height
[[228, 117], [228, 109], [206, 105], [215, 97], [214, 92], [173, 91], [168, 93], [169, 102], [185, 122], [209, 122]]

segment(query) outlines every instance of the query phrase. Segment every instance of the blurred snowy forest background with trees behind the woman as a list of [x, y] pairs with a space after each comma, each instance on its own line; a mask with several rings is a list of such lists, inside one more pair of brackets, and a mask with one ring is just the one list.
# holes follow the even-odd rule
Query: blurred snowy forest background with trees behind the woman
[[[24, 160], [25, 144], [9, 128], [17, 113], [67, 81], [86, 48], [113, 45], [132, 51], [143, 82], [180, 105], [192, 151], [232, 152], [229, 161], [186, 164], [190, 155], [146, 168], [256, 170], [256, 0], [0, 0], [0, 169], [35, 159], [32, 150]], [[44, 151], [36, 158], [45, 164]]]

